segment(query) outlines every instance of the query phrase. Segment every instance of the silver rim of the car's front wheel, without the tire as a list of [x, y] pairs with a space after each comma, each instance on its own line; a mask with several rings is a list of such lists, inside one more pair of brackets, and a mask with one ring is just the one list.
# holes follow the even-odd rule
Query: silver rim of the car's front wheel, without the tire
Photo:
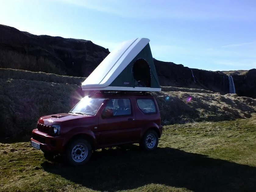
[[76, 144], [71, 151], [72, 159], [77, 163], [84, 161], [87, 155], [88, 149], [84, 144]]

